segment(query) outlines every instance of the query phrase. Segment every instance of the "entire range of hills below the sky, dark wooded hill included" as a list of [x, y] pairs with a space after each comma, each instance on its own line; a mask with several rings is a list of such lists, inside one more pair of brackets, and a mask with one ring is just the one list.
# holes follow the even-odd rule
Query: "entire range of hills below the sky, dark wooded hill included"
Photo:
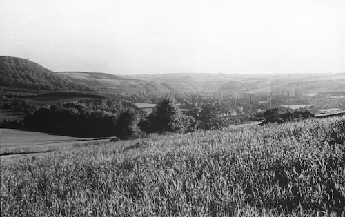
[[339, 74], [135, 74], [52, 72], [26, 59], [0, 56], [0, 86], [33, 90], [101, 90], [110, 93], [165, 95], [186, 92], [282, 94], [345, 92]]

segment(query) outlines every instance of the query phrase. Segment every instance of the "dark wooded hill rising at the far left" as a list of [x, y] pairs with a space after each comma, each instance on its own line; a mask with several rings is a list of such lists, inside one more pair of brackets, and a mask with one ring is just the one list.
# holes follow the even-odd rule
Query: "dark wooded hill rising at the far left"
[[30, 90], [91, 90], [37, 63], [12, 56], [0, 56], [0, 86]]

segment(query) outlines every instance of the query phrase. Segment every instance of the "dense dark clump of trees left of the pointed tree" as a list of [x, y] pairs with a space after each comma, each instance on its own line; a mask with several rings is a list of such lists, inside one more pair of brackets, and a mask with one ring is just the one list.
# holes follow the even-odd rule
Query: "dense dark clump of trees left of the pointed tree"
[[139, 135], [137, 109], [122, 101], [88, 100], [39, 108], [27, 114], [25, 127], [72, 136], [128, 138]]

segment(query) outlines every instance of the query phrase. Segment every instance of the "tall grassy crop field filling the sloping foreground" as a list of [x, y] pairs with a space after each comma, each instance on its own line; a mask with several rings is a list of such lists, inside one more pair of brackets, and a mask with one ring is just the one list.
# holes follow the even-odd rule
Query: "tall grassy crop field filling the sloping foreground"
[[1, 161], [1, 216], [344, 216], [345, 116]]

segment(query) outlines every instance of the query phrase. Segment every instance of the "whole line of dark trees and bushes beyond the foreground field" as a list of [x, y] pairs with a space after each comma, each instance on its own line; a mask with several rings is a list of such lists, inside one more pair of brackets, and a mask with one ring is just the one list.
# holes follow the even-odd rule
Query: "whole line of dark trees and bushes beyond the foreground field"
[[226, 125], [226, 119], [217, 118], [212, 112], [198, 116], [182, 114], [173, 99], [162, 99], [148, 115], [128, 101], [105, 99], [85, 99], [31, 109], [26, 112], [23, 121], [4, 120], [0, 127], [22, 127], [70, 136], [117, 136], [126, 139], [150, 133], [210, 130]]

